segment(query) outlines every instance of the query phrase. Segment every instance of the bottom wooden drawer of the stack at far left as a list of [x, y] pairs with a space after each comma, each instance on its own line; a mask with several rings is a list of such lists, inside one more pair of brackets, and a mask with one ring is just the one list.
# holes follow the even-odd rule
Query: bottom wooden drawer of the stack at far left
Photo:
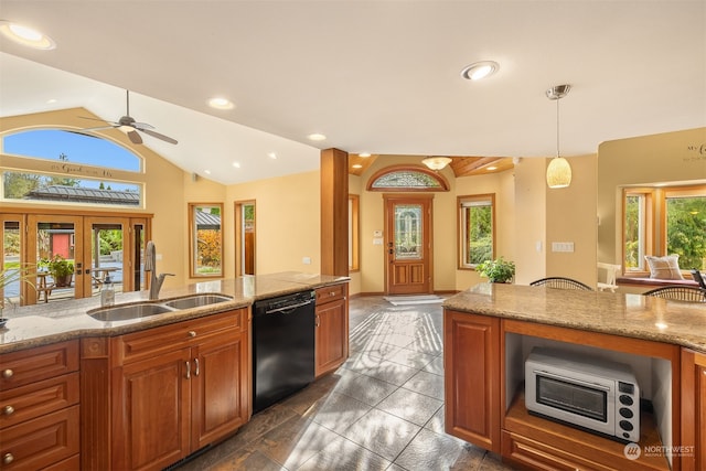
[[2, 469], [38, 470], [77, 454], [78, 421], [73, 406], [2, 430]]

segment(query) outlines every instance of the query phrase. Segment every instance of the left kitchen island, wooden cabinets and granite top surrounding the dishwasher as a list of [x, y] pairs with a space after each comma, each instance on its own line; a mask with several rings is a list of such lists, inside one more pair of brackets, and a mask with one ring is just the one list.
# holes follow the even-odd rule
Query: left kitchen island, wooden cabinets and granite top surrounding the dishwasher
[[[315, 293], [317, 375], [347, 357], [347, 278], [281, 272], [19, 308], [0, 330], [0, 456], [18, 469], [163, 469], [253, 413], [252, 304]], [[215, 296], [217, 295], [217, 296]], [[190, 304], [190, 299], [218, 302]], [[164, 306], [178, 306], [162, 312]], [[184, 307], [185, 306], [185, 307]]]

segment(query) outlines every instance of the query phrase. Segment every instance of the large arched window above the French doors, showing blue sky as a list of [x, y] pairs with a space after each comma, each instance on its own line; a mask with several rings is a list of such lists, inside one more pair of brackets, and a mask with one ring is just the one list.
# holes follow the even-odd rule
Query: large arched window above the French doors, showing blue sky
[[142, 158], [108, 139], [31, 129], [3, 136], [1, 146], [0, 200], [142, 206]]

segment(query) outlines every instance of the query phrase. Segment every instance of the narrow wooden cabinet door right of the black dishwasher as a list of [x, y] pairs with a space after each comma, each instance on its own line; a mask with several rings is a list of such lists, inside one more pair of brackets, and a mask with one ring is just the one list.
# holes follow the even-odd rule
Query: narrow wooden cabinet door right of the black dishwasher
[[345, 299], [317, 307], [315, 376], [339, 367], [349, 356]]

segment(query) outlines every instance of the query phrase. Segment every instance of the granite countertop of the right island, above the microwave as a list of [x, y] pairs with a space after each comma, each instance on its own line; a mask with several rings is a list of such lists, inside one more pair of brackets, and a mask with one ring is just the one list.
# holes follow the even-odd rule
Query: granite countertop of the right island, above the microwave
[[706, 353], [706, 303], [619, 292], [481, 283], [448, 298], [443, 307], [671, 343]]

